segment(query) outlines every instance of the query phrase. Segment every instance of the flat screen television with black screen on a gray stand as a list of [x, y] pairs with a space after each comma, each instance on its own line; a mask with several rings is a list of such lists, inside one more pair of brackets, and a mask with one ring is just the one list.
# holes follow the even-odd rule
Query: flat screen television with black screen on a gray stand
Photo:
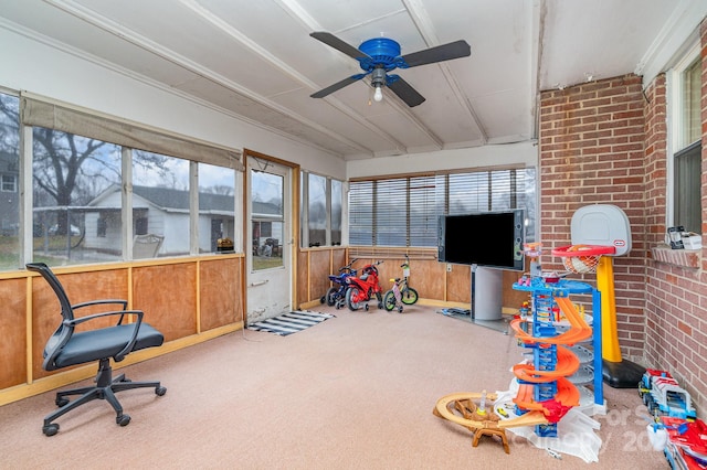
[[437, 259], [457, 265], [524, 270], [523, 209], [441, 215]]

